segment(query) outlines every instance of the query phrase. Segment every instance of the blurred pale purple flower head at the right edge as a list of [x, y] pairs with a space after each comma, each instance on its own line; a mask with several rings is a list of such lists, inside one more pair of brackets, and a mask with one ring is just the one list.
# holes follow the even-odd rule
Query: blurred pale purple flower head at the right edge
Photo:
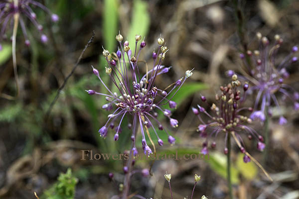
[[[247, 59], [244, 54], [240, 54], [240, 58], [246, 67], [246, 74], [240, 78], [247, 80], [253, 85], [247, 93], [257, 92], [251, 118], [264, 122], [266, 116], [271, 115], [271, 109], [267, 111], [267, 107], [274, 105], [280, 113], [279, 123], [283, 125], [287, 123], [287, 119], [282, 115], [282, 109], [277, 99], [278, 93], [283, 95], [283, 99], [289, 98], [294, 104], [294, 109], [299, 109], [299, 93], [292, 86], [284, 84], [285, 79], [290, 76], [287, 68], [298, 61], [298, 57], [295, 56], [298, 47], [293, 46], [289, 55], [280, 63], [277, 63], [283, 39], [279, 35], [275, 35], [275, 43], [273, 45], [270, 45], [268, 38], [263, 37], [261, 33], [257, 33], [257, 39], [259, 41], [258, 50], [248, 50], [246, 52]], [[228, 71], [227, 74], [232, 76], [234, 72]]]

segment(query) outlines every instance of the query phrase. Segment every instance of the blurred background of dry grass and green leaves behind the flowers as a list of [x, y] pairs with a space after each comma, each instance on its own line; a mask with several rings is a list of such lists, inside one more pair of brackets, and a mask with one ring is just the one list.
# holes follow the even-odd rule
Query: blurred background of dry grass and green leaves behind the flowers
[[[134, 43], [136, 34], [146, 38], [147, 47], [142, 57], [151, 65], [151, 52], [156, 46], [156, 38], [162, 35], [170, 49], [164, 61], [172, 66], [171, 72], [158, 78], [160, 87], [165, 88], [186, 70], [194, 69], [191, 80], [182, 86], [173, 98], [178, 107], [174, 117], [179, 120], [178, 129], [170, 129], [163, 115], [159, 120], [177, 139], [175, 146], [165, 144], [157, 147], [160, 152], [198, 154], [202, 141], [196, 133], [198, 121], [194, 119], [192, 106], [199, 103], [200, 95], [213, 99], [219, 85], [225, 82], [225, 71], [238, 70], [242, 42], [249, 42], [257, 31], [273, 38], [281, 34], [286, 41], [284, 50], [298, 44], [299, 2], [295, 0], [253, 0], [238, 4], [244, 21], [238, 27], [234, 3], [227, 0], [41, 0], [60, 21], [52, 24], [44, 12], [36, 9], [45, 33], [49, 36], [47, 45], [41, 44], [32, 24], [27, 21], [31, 46], [24, 45], [21, 32], [17, 35], [17, 67], [21, 95], [17, 100], [0, 99], [0, 198], [32, 199], [35, 191], [41, 199], [55, 198], [55, 190], [68, 189], [77, 199], [109, 198], [118, 193], [123, 180], [122, 161], [80, 161], [81, 150], [94, 153], [123, 153], [130, 148], [131, 137], [127, 128], [130, 120], [123, 122], [122, 134], [116, 143], [113, 132], [106, 139], [99, 136], [99, 128], [106, 122], [107, 111], [101, 107], [105, 98], [89, 96], [85, 90], [103, 91], [100, 82], [92, 74], [91, 65], [99, 71], [103, 80], [111, 88], [105, 75], [105, 60], [102, 46], [110, 52], [117, 51], [115, 35], [121, 31], [129, 43]], [[35, 10], [34, 10], [35, 11]], [[239, 28], [239, 29], [238, 29]], [[241, 29], [240, 29], [241, 28]], [[95, 39], [87, 48], [79, 67], [60, 93], [50, 115], [46, 111], [71, 72], [88, 39], [95, 30]], [[238, 31], [243, 31], [240, 40]], [[0, 92], [14, 95], [11, 44], [6, 41], [0, 51]], [[141, 65], [142, 66], [142, 65]], [[146, 70], [142, 68], [142, 73]], [[289, 83], [298, 90], [298, 67], [290, 69]], [[272, 148], [272, 158], [266, 170], [275, 174], [277, 182], [264, 181], [253, 163], [244, 164], [242, 155], [234, 148], [233, 183], [240, 199], [273, 198], [280, 196], [292, 199], [299, 196], [299, 135], [298, 113], [285, 110], [291, 124], [282, 129], [273, 124], [272, 132], [276, 144]], [[259, 124], [257, 124], [259, 126]], [[167, 136], [156, 129], [160, 138], [167, 142]], [[150, 134], [154, 135], [152, 129]], [[155, 136], [151, 136], [156, 143]], [[141, 139], [141, 138], [139, 138]], [[140, 144], [141, 142], [137, 142]], [[254, 151], [255, 144], [246, 143], [248, 150]], [[142, 147], [138, 146], [139, 149]], [[189, 195], [193, 173], [202, 176], [196, 187], [197, 193], [211, 198], [225, 198], [226, 181], [223, 145], [218, 152], [210, 154], [207, 161], [156, 161], [152, 166], [154, 176], [142, 178], [137, 175], [132, 182], [133, 191], [146, 198], [168, 199], [168, 190], [161, 183], [165, 171], [173, 175], [175, 198]], [[140, 150], [141, 151], [141, 150]], [[221, 151], [221, 152], [219, 152]], [[297, 151], [297, 152], [296, 152]], [[297, 155], [296, 155], [297, 154]], [[254, 154], [261, 157], [261, 154]], [[137, 167], [149, 168], [152, 161], [137, 162]], [[67, 168], [72, 168], [73, 173]], [[61, 172], [66, 172], [57, 177]], [[116, 172], [116, 182], [109, 181], [108, 172]], [[21, 175], [22, 174], [22, 175]], [[220, 179], [220, 180], [219, 180]], [[71, 183], [66, 183], [70, 180]], [[164, 179], [162, 179], [164, 180]], [[71, 186], [70, 186], [71, 185]], [[70, 187], [69, 187], [70, 186]], [[164, 189], [163, 189], [164, 187]], [[61, 189], [60, 189], [61, 188]], [[161, 189], [162, 188], [162, 189]], [[176, 190], [175, 190], [176, 188]], [[272, 190], [272, 194], [265, 190]], [[164, 191], [163, 191], [164, 190]], [[42, 194], [44, 193], [44, 195]], [[63, 193], [65, 194], [65, 193]], [[57, 199], [61, 196], [56, 197]], [[73, 198], [73, 195], [68, 195]], [[55, 198], [55, 199], [56, 199]], [[62, 197], [65, 198], [65, 197]]]

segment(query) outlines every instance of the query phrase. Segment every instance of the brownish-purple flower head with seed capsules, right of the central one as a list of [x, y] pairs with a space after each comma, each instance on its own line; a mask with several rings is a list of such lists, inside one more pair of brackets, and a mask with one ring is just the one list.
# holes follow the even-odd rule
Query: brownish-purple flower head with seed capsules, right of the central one
[[[215, 139], [219, 133], [225, 135], [225, 143], [227, 143], [228, 133], [234, 133], [241, 143], [240, 151], [246, 153], [243, 139], [241, 138], [239, 132], [248, 133], [248, 138], [252, 139], [253, 137], [258, 140], [257, 148], [260, 151], [263, 151], [265, 148], [264, 139], [259, 135], [253, 128], [248, 126], [252, 122], [251, 118], [241, 115], [240, 111], [249, 110], [252, 111], [251, 107], [240, 107], [241, 103], [244, 101], [244, 97], [249, 89], [248, 84], [244, 84], [241, 88], [241, 82], [238, 80], [236, 74], [232, 75], [232, 82], [227, 86], [221, 86], [220, 95], [215, 96], [216, 102], [211, 106], [207, 103], [207, 100], [204, 96], [201, 96], [203, 103], [208, 104], [211, 110], [211, 114], [200, 105], [197, 108], [192, 108], [193, 113], [197, 115], [199, 121], [201, 122], [198, 125], [197, 131], [200, 132], [201, 137], [206, 138], [203, 142], [203, 148], [201, 153], [208, 153], [208, 142], [210, 139]], [[241, 89], [240, 89], [241, 88]], [[243, 92], [241, 92], [243, 90]], [[204, 113], [208, 117], [208, 121], [205, 122], [201, 114]], [[214, 138], [212, 138], [214, 136]], [[216, 147], [216, 142], [212, 141], [211, 147]], [[227, 147], [224, 148], [224, 154], [228, 153]], [[250, 157], [246, 154], [244, 155], [244, 162], [249, 162]]]

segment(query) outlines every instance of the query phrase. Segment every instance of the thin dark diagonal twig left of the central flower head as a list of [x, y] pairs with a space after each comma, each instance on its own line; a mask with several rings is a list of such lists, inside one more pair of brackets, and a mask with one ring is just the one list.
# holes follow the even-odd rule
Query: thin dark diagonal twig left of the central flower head
[[60, 95], [60, 92], [61, 92], [62, 89], [65, 87], [65, 85], [66, 85], [68, 79], [69, 79], [69, 78], [73, 75], [73, 73], [75, 72], [77, 66], [79, 65], [79, 63], [80, 63], [80, 61], [81, 61], [81, 59], [82, 59], [82, 57], [83, 57], [83, 54], [85, 53], [86, 49], [87, 49], [87, 48], [90, 46], [90, 44], [92, 43], [94, 37], [95, 37], [95, 31], [92, 31], [92, 36], [91, 36], [91, 38], [88, 40], [88, 42], [87, 42], [87, 44], [85, 45], [83, 51], [81, 52], [80, 57], [78, 58], [78, 60], [77, 60], [77, 62], [76, 62], [76, 64], [75, 64], [73, 70], [72, 70], [72, 71], [70, 72], [70, 74], [65, 78], [63, 84], [59, 87], [59, 89], [58, 89], [58, 91], [57, 91], [57, 93], [56, 93], [56, 95], [55, 95], [54, 100], [50, 103], [50, 106], [48, 107], [47, 112], [46, 112], [46, 114], [45, 114], [45, 122], [47, 121], [47, 119], [48, 119], [48, 117], [49, 117], [49, 114], [50, 114], [50, 112], [51, 112], [51, 110], [52, 110], [52, 108], [53, 108], [55, 102], [58, 100], [59, 95]]

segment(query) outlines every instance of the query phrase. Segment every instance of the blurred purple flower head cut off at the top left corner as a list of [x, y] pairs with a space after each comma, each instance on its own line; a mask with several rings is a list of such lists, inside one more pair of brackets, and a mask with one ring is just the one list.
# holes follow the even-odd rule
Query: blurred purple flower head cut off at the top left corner
[[[30, 41], [28, 40], [25, 19], [28, 18], [36, 27], [36, 29], [40, 33], [40, 41], [42, 43], [47, 43], [48, 38], [43, 33], [43, 26], [37, 21], [36, 14], [32, 10], [32, 7], [40, 7], [45, 12], [51, 15], [51, 20], [53, 22], [57, 22], [59, 17], [52, 13], [46, 6], [37, 2], [35, 0], [1, 0], [0, 2], [0, 42], [3, 39], [7, 39], [6, 32], [8, 32], [8, 26], [10, 24], [16, 23], [15, 20], [19, 21], [24, 38], [25, 44], [27, 46], [30, 45]], [[17, 16], [17, 17], [15, 17]], [[17, 22], [18, 23], [18, 22]], [[1, 44], [0, 44], [1, 49]]]

